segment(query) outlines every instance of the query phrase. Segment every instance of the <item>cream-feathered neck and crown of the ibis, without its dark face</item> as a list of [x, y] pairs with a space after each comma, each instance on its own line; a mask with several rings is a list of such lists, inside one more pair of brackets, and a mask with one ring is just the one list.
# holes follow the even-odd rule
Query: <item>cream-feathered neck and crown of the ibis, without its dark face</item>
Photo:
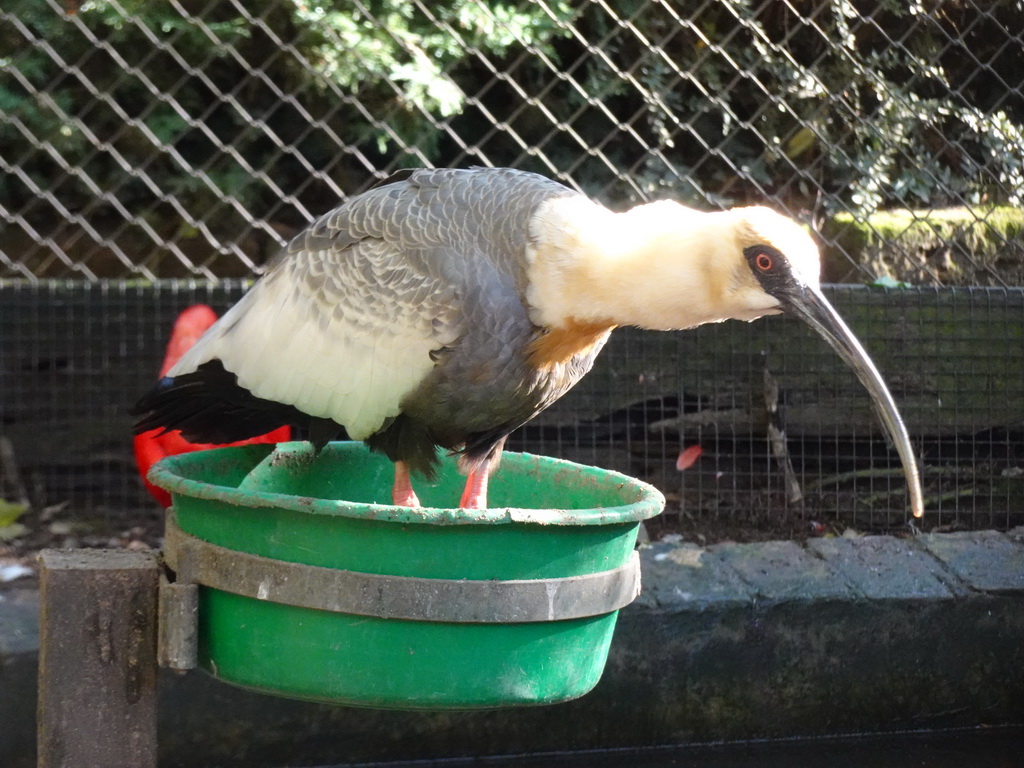
[[535, 323], [655, 330], [779, 311], [743, 249], [769, 245], [817, 286], [819, 257], [792, 219], [763, 207], [705, 213], [672, 201], [614, 213], [585, 198], [549, 201], [530, 224], [527, 301]]

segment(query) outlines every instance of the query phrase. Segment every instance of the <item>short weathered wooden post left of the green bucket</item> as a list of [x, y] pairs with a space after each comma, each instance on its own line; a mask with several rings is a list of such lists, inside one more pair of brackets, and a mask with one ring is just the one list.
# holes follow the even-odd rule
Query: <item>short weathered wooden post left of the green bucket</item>
[[156, 768], [157, 554], [39, 560], [39, 768]]

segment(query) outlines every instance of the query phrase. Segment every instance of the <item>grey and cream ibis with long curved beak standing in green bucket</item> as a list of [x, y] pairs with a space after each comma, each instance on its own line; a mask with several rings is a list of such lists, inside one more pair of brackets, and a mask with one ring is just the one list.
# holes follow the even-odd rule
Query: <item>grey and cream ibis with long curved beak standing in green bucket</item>
[[282, 424], [316, 451], [347, 434], [394, 463], [419, 506], [439, 450], [485, 508], [507, 436], [564, 395], [612, 331], [787, 312], [867, 388], [923, 510], [906, 429], [882, 376], [822, 295], [820, 257], [766, 206], [672, 200], [613, 211], [540, 174], [406, 169], [299, 232], [134, 408], [135, 429], [219, 442]]

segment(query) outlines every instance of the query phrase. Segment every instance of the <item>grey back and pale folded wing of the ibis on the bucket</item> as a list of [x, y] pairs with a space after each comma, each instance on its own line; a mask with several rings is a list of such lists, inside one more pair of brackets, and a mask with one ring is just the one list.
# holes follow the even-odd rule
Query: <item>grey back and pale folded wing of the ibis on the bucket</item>
[[480, 380], [480, 365], [521, 367], [509, 350], [534, 331], [528, 221], [573, 194], [510, 170], [417, 171], [375, 187], [296, 237], [171, 374], [216, 357], [257, 397], [373, 434], [410, 400], [457, 396], [456, 378]]

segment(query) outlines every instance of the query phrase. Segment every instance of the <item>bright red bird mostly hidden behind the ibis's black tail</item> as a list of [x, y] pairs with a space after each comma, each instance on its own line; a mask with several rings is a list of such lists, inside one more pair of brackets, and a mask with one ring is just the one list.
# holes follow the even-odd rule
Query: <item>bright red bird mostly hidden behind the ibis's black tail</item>
[[[167, 350], [164, 354], [164, 361], [160, 367], [160, 378], [163, 378], [171, 367], [210, 328], [217, 322], [217, 313], [206, 304], [194, 304], [185, 307], [174, 321], [171, 329], [171, 338], [167, 343]], [[291, 439], [292, 430], [290, 426], [282, 426], [264, 435], [256, 435], [249, 439], [242, 440], [238, 444], [248, 444], [254, 442], [283, 442]], [[161, 507], [171, 506], [171, 497], [163, 488], [157, 487], [150, 482], [146, 475], [150, 468], [161, 459], [168, 456], [179, 456], [194, 451], [205, 451], [211, 447], [218, 447], [209, 443], [189, 442], [177, 430], [166, 431], [163, 429], [153, 429], [141, 432], [134, 436], [132, 449], [135, 454], [135, 466], [138, 468], [142, 484], [150, 495], [157, 500]]]

